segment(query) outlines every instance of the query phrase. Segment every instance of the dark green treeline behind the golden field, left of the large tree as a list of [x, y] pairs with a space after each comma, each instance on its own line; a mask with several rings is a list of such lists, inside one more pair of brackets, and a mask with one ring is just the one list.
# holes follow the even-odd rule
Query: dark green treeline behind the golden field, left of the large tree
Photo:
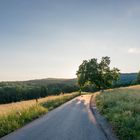
[[49, 84], [46, 86], [25, 83], [0, 83], [0, 104], [37, 99], [49, 95], [78, 91], [76, 85]]

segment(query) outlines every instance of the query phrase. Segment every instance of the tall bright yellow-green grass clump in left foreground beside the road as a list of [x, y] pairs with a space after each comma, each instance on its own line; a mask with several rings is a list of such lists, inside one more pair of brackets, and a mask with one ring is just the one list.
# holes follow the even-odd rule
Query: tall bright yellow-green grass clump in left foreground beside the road
[[46, 112], [47, 109], [37, 105], [21, 112], [12, 112], [11, 114], [0, 116], [0, 137], [22, 127]]

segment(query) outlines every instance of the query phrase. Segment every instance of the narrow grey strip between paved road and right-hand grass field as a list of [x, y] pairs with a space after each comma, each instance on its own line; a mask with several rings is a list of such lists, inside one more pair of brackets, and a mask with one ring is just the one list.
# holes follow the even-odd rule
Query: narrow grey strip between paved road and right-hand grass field
[[114, 134], [111, 125], [108, 123], [105, 117], [100, 115], [99, 111], [97, 110], [95, 102], [93, 102], [93, 98], [95, 98], [95, 93], [91, 95], [90, 98], [90, 110], [95, 116], [95, 119], [100, 127], [100, 129], [103, 131], [104, 135], [106, 136], [107, 140], [119, 140], [117, 136]]

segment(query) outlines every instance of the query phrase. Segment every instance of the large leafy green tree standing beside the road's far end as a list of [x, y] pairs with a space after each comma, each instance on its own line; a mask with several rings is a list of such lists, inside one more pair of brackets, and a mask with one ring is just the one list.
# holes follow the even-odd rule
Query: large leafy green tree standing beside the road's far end
[[78, 84], [83, 87], [86, 84], [95, 86], [96, 88], [104, 89], [110, 87], [119, 79], [119, 69], [110, 68], [110, 57], [102, 57], [98, 62], [96, 58], [84, 60], [79, 66], [76, 75]]

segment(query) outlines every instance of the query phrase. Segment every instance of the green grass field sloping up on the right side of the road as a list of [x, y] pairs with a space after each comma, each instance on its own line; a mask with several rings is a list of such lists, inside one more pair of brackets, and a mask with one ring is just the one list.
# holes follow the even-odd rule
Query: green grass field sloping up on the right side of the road
[[96, 105], [120, 140], [140, 140], [140, 86], [99, 93]]

